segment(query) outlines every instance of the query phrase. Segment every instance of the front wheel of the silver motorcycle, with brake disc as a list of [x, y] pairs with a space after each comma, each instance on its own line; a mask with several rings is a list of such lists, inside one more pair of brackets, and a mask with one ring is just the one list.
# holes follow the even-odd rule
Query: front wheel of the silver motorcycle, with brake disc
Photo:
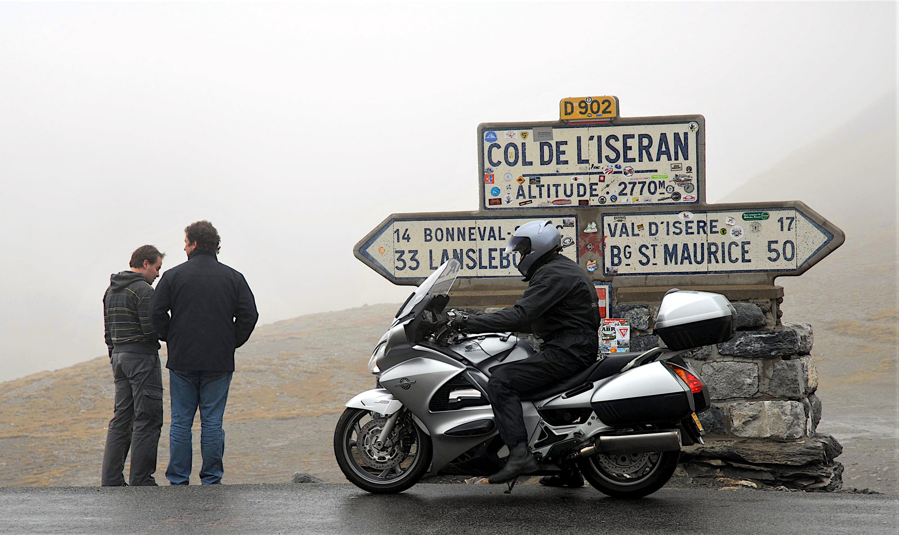
[[431, 466], [431, 437], [405, 411], [378, 443], [387, 417], [364, 409], [343, 411], [334, 429], [334, 457], [343, 475], [370, 493], [395, 494], [418, 483]]

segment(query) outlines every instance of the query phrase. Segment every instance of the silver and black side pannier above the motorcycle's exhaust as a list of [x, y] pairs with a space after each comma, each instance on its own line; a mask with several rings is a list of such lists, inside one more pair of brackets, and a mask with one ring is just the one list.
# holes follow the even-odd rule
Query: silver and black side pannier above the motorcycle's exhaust
[[606, 425], [679, 422], [694, 402], [690, 390], [662, 362], [651, 362], [614, 377], [597, 388], [590, 406]]

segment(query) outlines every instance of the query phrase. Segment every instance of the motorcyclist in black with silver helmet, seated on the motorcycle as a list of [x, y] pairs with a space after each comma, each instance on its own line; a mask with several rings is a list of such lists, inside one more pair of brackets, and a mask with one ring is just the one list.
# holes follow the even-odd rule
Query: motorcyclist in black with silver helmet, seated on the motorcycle
[[[596, 291], [587, 273], [561, 251], [561, 236], [552, 221], [530, 221], [518, 227], [506, 253], [521, 254], [518, 270], [528, 282], [521, 299], [494, 313], [452, 321], [453, 327], [467, 333], [514, 331], [543, 340], [542, 351], [495, 367], [487, 383], [500, 437], [510, 451], [503, 469], [489, 477], [490, 483], [505, 483], [539, 469], [528, 447], [521, 396], [571, 377], [596, 361], [600, 326]], [[579, 479], [578, 485], [573, 478]], [[583, 485], [576, 468], [556, 479], [549, 478], [548, 483]]]

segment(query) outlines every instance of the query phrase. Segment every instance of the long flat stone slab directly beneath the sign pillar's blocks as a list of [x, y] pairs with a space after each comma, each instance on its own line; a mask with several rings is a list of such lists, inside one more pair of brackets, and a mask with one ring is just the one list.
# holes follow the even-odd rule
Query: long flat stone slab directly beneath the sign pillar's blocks
[[[830, 441], [833, 443], [830, 443]], [[681, 457], [684, 462], [688, 460], [725, 459], [747, 464], [801, 467], [813, 463], [820, 465], [824, 462], [829, 462], [836, 455], [832, 455], [828, 451], [836, 452], [837, 449], [841, 451], [839, 442], [835, 441], [830, 435], [819, 433], [814, 438], [796, 442], [764, 440], [707, 441], [703, 445], [684, 446], [681, 449]]]

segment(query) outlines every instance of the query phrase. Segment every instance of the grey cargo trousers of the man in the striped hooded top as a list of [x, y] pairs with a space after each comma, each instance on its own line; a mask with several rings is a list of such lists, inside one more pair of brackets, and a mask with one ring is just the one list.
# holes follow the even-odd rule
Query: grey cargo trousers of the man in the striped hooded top
[[156, 449], [163, 427], [163, 375], [159, 355], [112, 353], [115, 415], [106, 432], [102, 486], [122, 486], [131, 450], [130, 486], [156, 485]]

